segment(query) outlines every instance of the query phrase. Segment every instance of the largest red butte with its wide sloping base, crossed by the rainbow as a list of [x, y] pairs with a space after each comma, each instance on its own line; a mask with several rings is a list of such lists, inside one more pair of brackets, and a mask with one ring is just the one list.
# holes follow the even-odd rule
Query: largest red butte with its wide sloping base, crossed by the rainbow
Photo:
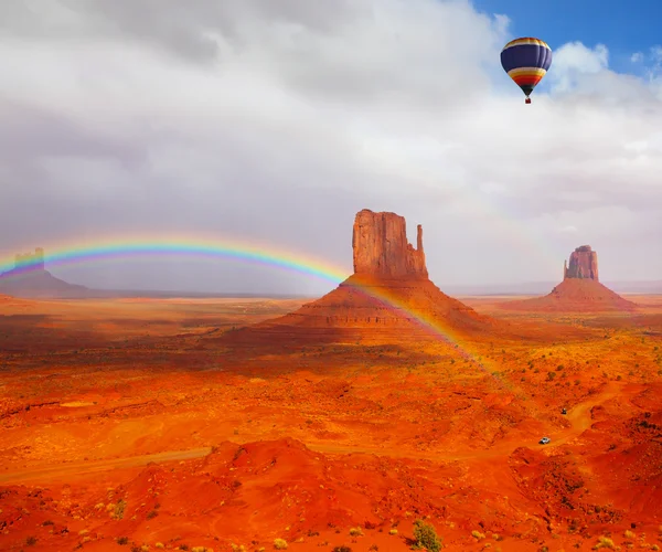
[[452, 341], [493, 332], [499, 326], [429, 279], [420, 225], [414, 248], [403, 216], [364, 209], [354, 220], [352, 248], [354, 274], [331, 293], [280, 318], [228, 332], [222, 340], [228, 344]]

